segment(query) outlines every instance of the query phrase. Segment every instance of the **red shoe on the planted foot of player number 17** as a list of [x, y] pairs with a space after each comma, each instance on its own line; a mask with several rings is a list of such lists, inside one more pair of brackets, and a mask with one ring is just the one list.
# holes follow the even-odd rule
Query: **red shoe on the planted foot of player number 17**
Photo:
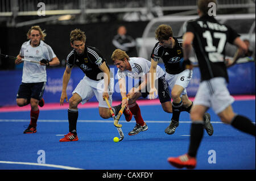
[[167, 161], [178, 169], [182, 169], [183, 167], [195, 169], [196, 167], [196, 158], [189, 157], [188, 154], [180, 155], [179, 157], [169, 157]]

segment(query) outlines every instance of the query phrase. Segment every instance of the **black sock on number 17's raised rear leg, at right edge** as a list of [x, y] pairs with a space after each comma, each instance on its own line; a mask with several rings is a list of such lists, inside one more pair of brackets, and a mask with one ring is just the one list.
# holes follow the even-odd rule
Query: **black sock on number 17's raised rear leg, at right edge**
[[251, 121], [245, 116], [241, 116], [241, 115], [235, 116], [233, 121], [231, 122], [231, 125], [242, 132], [249, 133], [255, 136], [255, 133], [256, 133], [255, 124], [251, 123]]

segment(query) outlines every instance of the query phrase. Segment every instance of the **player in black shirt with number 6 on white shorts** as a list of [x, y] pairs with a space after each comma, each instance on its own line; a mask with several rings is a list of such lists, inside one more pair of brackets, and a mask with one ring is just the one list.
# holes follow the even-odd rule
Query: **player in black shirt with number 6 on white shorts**
[[[155, 37], [158, 43], [151, 53], [150, 73], [154, 75], [159, 58], [161, 57], [166, 68], [166, 81], [171, 89], [172, 97], [172, 118], [170, 125], [164, 132], [174, 134], [179, 126], [180, 112], [190, 113], [193, 102], [188, 99], [186, 87], [192, 78], [193, 71], [180, 66], [183, 61], [183, 39], [181, 36], [174, 37], [172, 28], [167, 24], [161, 24], [155, 31]], [[155, 78], [152, 77], [152, 80]], [[151, 81], [154, 83], [154, 81]], [[155, 85], [151, 85], [150, 97], [154, 98], [156, 93]], [[213, 134], [213, 126], [210, 124], [209, 113], [204, 114], [204, 127], [209, 136]]]

